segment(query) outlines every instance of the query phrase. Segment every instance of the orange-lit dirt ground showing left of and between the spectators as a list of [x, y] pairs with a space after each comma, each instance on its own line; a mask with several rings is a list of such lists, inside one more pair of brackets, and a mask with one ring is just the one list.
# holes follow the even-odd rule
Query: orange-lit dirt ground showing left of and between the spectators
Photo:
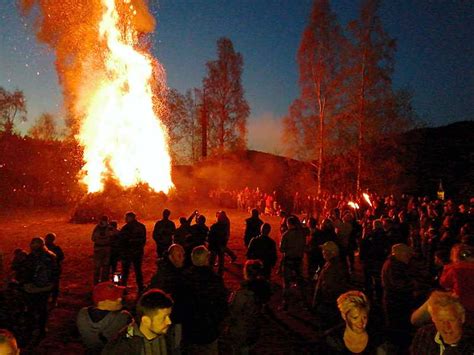
[[[190, 208], [191, 212], [193, 208]], [[216, 209], [205, 209], [200, 212], [206, 215], [208, 225], [214, 222]], [[51, 310], [48, 321], [47, 337], [34, 349], [34, 354], [83, 354], [84, 350], [75, 327], [78, 310], [91, 304], [92, 290], [92, 243], [90, 235], [92, 224], [71, 224], [68, 222], [72, 210], [3, 210], [0, 211], [0, 251], [4, 254], [6, 269], [15, 248], [28, 250], [32, 237], [44, 236], [48, 232], [57, 234], [57, 244], [65, 253], [61, 295], [57, 308]], [[226, 262], [225, 283], [229, 289], [236, 289], [242, 280], [242, 262], [245, 261], [243, 231], [246, 213], [227, 210], [231, 220], [231, 239], [229, 245], [238, 256], [238, 262]], [[158, 217], [158, 215], [157, 215]], [[171, 216], [176, 224], [179, 215]], [[263, 216], [274, 230], [271, 236], [279, 242], [279, 218]], [[142, 221], [147, 227], [147, 244], [144, 258], [145, 281], [148, 282], [155, 272], [155, 244], [151, 238], [154, 220]], [[123, 223], [119, 221], [119, 226]], [[255, 347], [258, 354], [302, 354], [312, 353], [312, 344], [318, 340], [318, 322], [296, 303], [288, 313], [277, 311], [280, 303], [280, 277], [273, 275], [275, 294], [270, 311], [263, 315], [261, 337]], [[135, 282], [132, 272], [132, 288], [127, 296], [127, 303], [132, 304], [135, 298]], [[310, 289], [310, 287], [308, 287]], [[295, 295], [297, 292], [294, 292]], [[296, 297], [296, 296], [295, 296]]]

